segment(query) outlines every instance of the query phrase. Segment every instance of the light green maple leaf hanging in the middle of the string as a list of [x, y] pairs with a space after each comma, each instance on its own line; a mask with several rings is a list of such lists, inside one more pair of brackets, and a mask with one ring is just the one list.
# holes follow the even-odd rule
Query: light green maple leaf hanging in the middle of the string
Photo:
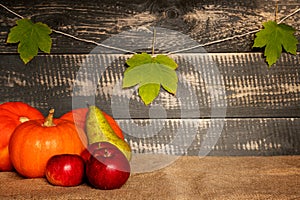
[[177, 63], [166, 55], [151, 57], [147, 53], [136, 54], [126, 61], [123, 88], [139, 85], [139, 95], [146, 105], [159, 94], [161, 86], [171, 94], [177, 90]]

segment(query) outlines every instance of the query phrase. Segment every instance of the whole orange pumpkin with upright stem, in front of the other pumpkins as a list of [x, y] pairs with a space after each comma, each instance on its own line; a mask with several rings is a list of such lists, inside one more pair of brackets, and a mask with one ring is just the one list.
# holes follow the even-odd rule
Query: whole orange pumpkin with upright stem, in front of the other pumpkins
[[87, 146], [85, 132], [73, 122], [48, 117], [19, 125], [9, 142], [9, 155], [16, 171], [27, 178], [45, 176], [47, 161], [58, 154], [78, 154]]

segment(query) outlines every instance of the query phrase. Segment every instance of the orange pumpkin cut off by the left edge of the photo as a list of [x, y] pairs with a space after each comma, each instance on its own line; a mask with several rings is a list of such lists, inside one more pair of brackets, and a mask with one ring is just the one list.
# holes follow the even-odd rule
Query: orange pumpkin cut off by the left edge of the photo
[[0, 171], [12, 171], [8, 143], [15, 128], [28, 120], [43, 119], [37, 109], [23, 102], [6, 102], [0, 105]]

